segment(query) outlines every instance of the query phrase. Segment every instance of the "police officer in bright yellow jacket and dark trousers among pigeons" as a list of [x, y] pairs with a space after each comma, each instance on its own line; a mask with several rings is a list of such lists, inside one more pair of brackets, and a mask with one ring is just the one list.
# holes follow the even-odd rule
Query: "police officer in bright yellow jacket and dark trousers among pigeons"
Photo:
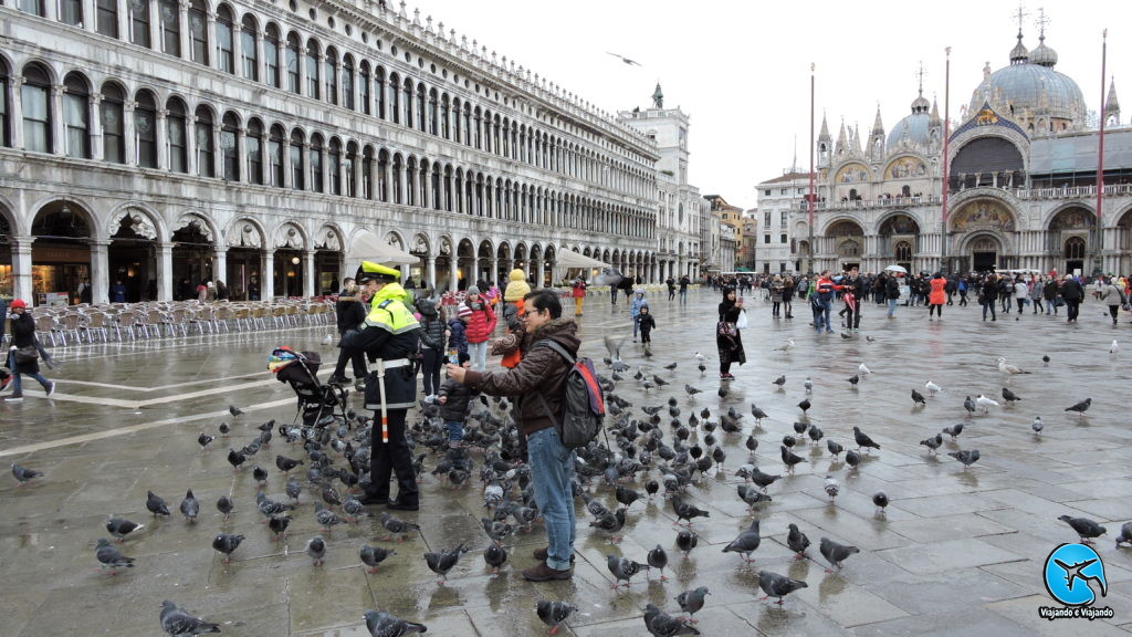
[[[354, 280], [361, 295], [372, 295], [369, 314], [345, 345], [376, 359], [367, 383], [366, 408], [374, 409], [371, 433], [371, 491], [365, 504], [387, 504], [398, 511], [420, 506], [413, 459], [405, 439], [405, 414], [417, 402], [417, 372], [408, 356], [417, 351], [420, 323], [406, 307], [410, 298], [397, 279], [401, 272], [363, 261]], [[389, 499], [391, 474], [397, 476], [397, 495]]]

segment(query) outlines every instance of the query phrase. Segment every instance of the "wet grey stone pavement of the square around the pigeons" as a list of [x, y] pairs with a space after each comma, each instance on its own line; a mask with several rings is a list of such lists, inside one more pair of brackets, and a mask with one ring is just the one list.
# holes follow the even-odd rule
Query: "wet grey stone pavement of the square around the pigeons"
[[[720, 398], [713, 337], [718, 300], [710, 290], [692, 291], [684, 306], [653, 298], [655, 356], [646, 360], [632, 339], [623, 356], [633, 371], [645, 365], [670, 384], [645, 393], [631, 371], [617, 388], [634, 404], [628, 410], [634, 418], [646, 418], [642, 406], [667, 408], [670, 396], [685, 422], [704, 408], [714, 422], [730, 407], [744, 414], [741, 434], [715, 431], [727, 453], [723, 470], [711, 469], [685, 494], [711, 515], [694, 524], [698, 547], [681, 558], [672, 507], [658, 496], [631, 508], [625, 538], [616, 546], [580, 519], [573, 579], [547, 584], [525, 583], [518, 574], [534, 564], [530, 553], [543, 545], [540, 523], [534, 533], [507, 541], [509, 559], [498, 576], [490, 575], [482, 559], [489, 540], [479, 523], [482, 485], [474, 478], [453, 490], [426, 474], [420, 512], [402, 516], [422, 530], [402, 544], [383, 541], [376, 519], [341, 525], [326, 536], [325, 563], [312, 566], [303, 547], [318, 533], [312, 504], [318, 496], [309, 491], [302, 493], [285, 540], [272, 541], [258, 524], [251, 470], [233, 473], [226, 450], [249, 442], [260, 423], [294, 416], [294, 394], [265, 372], [271, 349], [318, 349], [333, 359], [333, 348], [321, 345], [328, 328], [60, 348], [65, 366], [49, 372], [59, 382], [52, 399], [29, 388], [22, 405], [0, 405], [0, 456], [45, 474], [23, 487], [10, 476], [0, 485], [0, 636], [160, 635], [157, 615], [165, 598], [218, 622], [225, 635], [368, 635], [362, 613], [381, 609], [426, 623], [430, 634], [525, 636], [548, 630], [534, 613], [535, 601], [548, 598], [578, 608], [563, 632], [619, 637], [646, 634], [645, 604], [677, 614], [674, 597], [697, 586], [711, 591], [696, 615], [704, 635], [1129, 631], [1132, 552], [1114, 549], [1113, 541], [1132, 519], [1132, 431], [1125, 406], [1132, 347], [1109, 354], [1114, 338], [1132, 333], [1129, 323], [1113, 328], [1096, 301], [1086, 304], [1077, 325], [1065, 323], [1064, 311], [1055, 318], [1032, 315], [1029, 308], [1017, 321], [1010, 314], [984, 323], [974, 306], [946, 307], [942, 321], [931, 322], [926, 308], [901, 307], [889, 321], [880, 306], [867, 304], [861, 331], [842, 338], [815, 333], [804, 303], [795, 304], [795, 318], [773, 320], [770, 304], [748, 296], [751, 325], [743, 334], [748, 363], [732, 370], [737, 377], [730, 393]], [[606, 297], [588, 299], [581, 320], [583, 353], [600, 360], [602, 337], [629, 333], [627, 311], [624, 299], [615, 308]], [[797, 345], [775, 351], [788, 337]], [[706, 374], [696, 370], [696, 351], [710, 359]], [[1043, 355], [1050, 358], [1048, 365]], [[1000, 356], [1031, 373], [1000, 372]], [[675, 371], [663, 368], [674, 362]], [[872, 373], [854, 388], [847, 379], [861, 363]], [[329, 367], [324, 366], [323, 379]], [[779, 375], [787, 379], [782, 389], [772, 384]], [[807, 376], [814, 384], [808, 397], [803, 389]], [[928, 397], [926, 407], [915, 407], [910, 391], [927, 394], [929, 380], [943, 391]], [[703, 393], [688, 397], [685, 383]], [[985, 393], [1002, 402], [1003, 387], [1022, 400], [967, 416], [966, 396]], [[784, 473], [780, 441], [803, 419], [797, 404], [804, 398], [813, 402], [805, 419], [826, 438], [852, 449], [851, 428], [858, 425], [882, 449], [865, 455], [850, 472], [844, 455], [834, 460], [824, 441], [799, 443], [795, 450], [805, 461], [770, 487], [773, 502], [758, 507], [763, 541], [755, 562], [745, 566], [736, 554], [722, 552], [752, 520], [736, 495], [744, 481], [735, 472], [748, 461], [744, 441], [754, 433], [760, 441], [754, 461], [767, 473]], [[1064, 411], [1086, 398], [1092, 406], [1084, 417]], [[770, 415], [761, 427], [751, 416], [752, 402]], [[246, 413], [233, 418], [229, 405]], [[669, 418], [663, 410], [661, 415], [664, 440], [671, 443]], [[1045, 423], [1040, 438], [1030, 428], [1036, 415]], [[410, 414], [410, 421], [415, 416]], [[197, 436], [215, 434], [221, 422], [232, 425], [231, 436], [201, 451]], [[957, 423], [964, 430], [953, 442], [944, 436], [938, 456], [918, 444]], [[703, 435], [702, 427], [693, 430], [689, 444]], [[963, 470], [946, 456], [960, 449], [978, 449], [981, 458]], [[284, 478], [274, 466], [277, 453], [301, 457], [302, 450], [276, 435], [248, 465], [266, 468], [266, 493], [285, 500]], [[430, 456], [427, 470], [436, 462]], [[823, 489], [826, 475], [840, 484], [833, 501]], [[657, 468], [648, 474], [658, 476]], [[645, 477], [640, 475], [632, 486], [643, 491]], [[201, 504], [195, 525], [177, 513], [187, 489]], [[600, 481], [588, 490], [610, 507], [616, 503], [612, 489]], [[872, 503], [880, 490], [891, 499], [884, 515]], [[163, 496], [173, 516], [154, 519], [145, 509], [147, 491]], [[226, 523], [214, 508], [224, 494], [235, 501]], [[146, 525], [121, 547], [136, 559], [135, 568], [117, 576], [100, 572], [94, 557], [95, 541], [106, 536], [109, 515]], [[1097, 543], [1108, 592], [1096, 605], [1112, 606], [1113, 619], [1050, 622], [1038, 615], [1039, 606], [1054, 603], [1043, 581], [1047, 555], [1058, 544], [1077, 541], [1057, 520], [1062, 515], [1088, 517], [1108, 529]], [[789, 524], [809, 536], [812, 560], [792, 559], [786, 545]], [[247, 536], [230, 564], [211, 547], [220, 532]], [[816, 550], [821, 537], [856, 545], [860, 553], [843, 570], [826, 574]], [[471, 552], [446, 585], [437, 585], [421, 553], [461, 542]], [[362, 543], [395, 547], [396, 554], [369, 575], [358, 559]], [[638, 576], [627, 591], [612, 593], [604, 555], [643, 562], [657, 544], [669, 554], [670, 579]], [[803, 579], [808, 587], [787, 596], [781, 606], [758, 601], [761, 569]]]

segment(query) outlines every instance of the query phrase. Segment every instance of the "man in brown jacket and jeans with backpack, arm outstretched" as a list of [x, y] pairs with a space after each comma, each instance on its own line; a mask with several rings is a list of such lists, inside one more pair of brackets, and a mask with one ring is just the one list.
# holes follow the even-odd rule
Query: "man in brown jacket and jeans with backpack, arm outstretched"
[[[523, 297], [524, 334], [520, 342], [523, 357], [516, 367], [499, 372], [474, 372], [448, 365], [448, 377], [473, 391], [489, 396], [516, 397], [518, 428], [526, 439], [534, 483], [534, 499], [546, 520], [547, 549], [534, 552], [539, 566], [523, 571], [531, 581], [569, 579], [574, 560], [574, 451], [566, 449], [555, 423], [563, 413], [563, 391], [571, 364], [540, 341], [555, 340], [572, 356], [581, 345], [577, 324], [563, 318], [558, 297], [546, 289]], [[540, 399], [541, 397], [541, 399]], [[551, 416], [547, 408], [554, 414]]]

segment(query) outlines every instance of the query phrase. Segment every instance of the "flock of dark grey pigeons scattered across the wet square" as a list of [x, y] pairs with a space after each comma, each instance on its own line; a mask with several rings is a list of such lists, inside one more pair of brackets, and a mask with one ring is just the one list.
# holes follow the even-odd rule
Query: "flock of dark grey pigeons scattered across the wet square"
[[[720, 407], [718, 414], [703, 407], [684, 415], [677, 392], [669, 393], [667, 398], [653, 392], [670, 384], [671, 381], [666, 377], [666, 373], [675, 372], [678, 363], [664, 365], [666, 372], [661, 373], [646, 372], [646, 366], [637, 366], [635, 373], [629, 374], [633, 367], [620, 357], [620, 347], [624, 342], [625, 339], [609, 337], [604, 342], [609, 351], [609, 357], [604, 359], [609, 375], [600, 375], [600, 381], [606, 391], [609, 415], [607, 435], [599, 436], [589, 447], [580, 449], [575, 462], [574, 494], [585, 502], [585, 511], [590, 518], [589, 526], [603, 534], [611, 544], [616, 544], [620, 541], [623, 532], [626, 528], [634, 528], [637, 523], [631, 513], [633, 504], [638, 501], [652, 502], [657, 496], [661, 496], [667, 500], [666, 508], [670, 509], [675, 518], [677, 533], [674, 546], [687, 559], [698, 544], [698, 535], [694, 530], [695, 520], [711, 516], [710, 511], [691, 501], [688, 487], [698, 481], [726, 473], [728, 451], [741, 445], [746, 452], [744, 461], [732, 462], [734, 475], [743, 478], [743, 482], [736, 485], [736, 494], [747, 506], [748, 515], [753, 519], [746, 529], [722, 547], [722, 551], [737, 553], [740, 568], [746, 568], [747, 564], [755, 562], [752, 555], [756, 554], [763, 540], [758, 513], [772, 506], [771, 487], [783, 477], [780, 473], [766, 470], [765, 465], [760, 467], [756, 462], [760, 436], [767, 434], [763, 423], [770, 416], [755, 404], [751, 404], [749, 425], [744, 422], [747, 414], [737, 410], [735, 406], [726, 410]], [[790, 339], [775, 351], [788, 355], [794, 346], [794, 339]], [[1114, 341], [1112, 349], [1114, 356], [1115, 351]], [[694, 360], [703, 375], [707, 358], [696, 353]], [[1048, 357], [1044, 360], [1048, 364]], [[1005, 358], [998, 359], [998, 371], [1007, 384], [1011, 377], [1030, 373], [1011, 365]], [[861, 363], [857, 373], [848, 379], [850, 390], [857, 391], [861, 381], [872, 373]], [[775, 391], [787, 391], [788, 380], [784, 375], [773, 383]], [[636, 396], [643, 393], [646, 404], [634, 405], [623, 398], [627, 392], [619, 388], [625, 387], [634, 388]], [[783, 473], [794, 474], [798, 465], [809, 462], [795, 452], [798, 445], [817, 445], [823, 439], [826, 450], [835, 461], [840, 462], [841, 455], [844, 455], [843, 462], [849, 472], [861, 470], [863, 455], [872, 455], [874, 451], [877, 455], [883, 453], [881, 444], [860, 426], [851, 427], [852, 442], [849, 442], [846, 432], [842, 443], [835, 440], [837, 436], [826, 435], [826, 432], [809, 422], [807, 413], [812, 407], [814, 383], [807, 377], [801, 387], [805, 398], [798, 402], [799, 419], [792, 423], [794, 433], [783, 435], [779, 444]], [[696, 394], [702, 393], [702, 390], [692, 384], [685, 384], [684, 391], [685, 401], [688, 404], [694, 404]], [[911, 391], [916, 408], [927, 408], [929, 401], [935, 400], [945, 390], [928, 381], [924, 384], [924, 392], [927, 392], [927, 397], [918, 389]], [[720, 401], [721, 406], [729, 402], [727, 400], [731, 394], [729, 383], [721, 382], [718, 393], [723, 399]], [[963, 409], [970, 418], [979, 411], [986, 414], [992, 408], [1010, 408], [1021, 400], [1010, 388], [1003, 387], [1002, 402], [986, 394], [978, 394], [975, 399], [968, 396], [963, 401]], [[1083, 418], [1090, 405], [1091, 399], [1087, 398], [1065, 410], [1077, 413]], [[235, 407], [230, 407], [230, 411], [233, 418], [239, 419], [242, 415]], [[479, 484], [482, 485], [486, 510], [480, 520], [487, 536], [482, 555], [486, 566], [492, 572], [499, 572], [508, 560], [508, 540], [516, 533], [531, 532], [533, 525], [540, 521], [530, 470], [521, 462], [522, 449], [517, 427], [511, 421], [507, 400], [498, 398], [489, 400], [481, 397], [469, 417], [464, 445], [461, 448], [449, 448], [446, 430], [436, 406], [421, 404], [418, 414], [419, 419], [410, 426], [411, 445], [417, 453], [414, 467], [418, 475], [423, 476], [426, 461], [431, 456], [435, 467], [430, 474], [437, 482], [447, 483], [453, 489], [462, 489], [474, 483], [473, 476], [478, 477]], [[958, 423], [945, 427], [920, 444], [927, 448], [927, 453], [934, 455], [943, 444], [943, 435], [949, 435], [954, 441], [962, 433], [963, 426], [963, 423]], [[1032, 424], [1035, 435], [1040, 435], [1043, 426], [1040, 417], [1036, 416]], [[260, 521], [266, 524], [273, 538], [278, 540], [286, 534], [293, 516], [302, 515], [300, 513], [302, 510], [311, 511], [309, 515], [317, 520], [321, 532], [307, 540], [306, 553], [314, 567], [320, 566], [334, 544], [332, 533], [335, 526], [359, 524], [372, 516], [355, 496], [367, 486], [369, 479], [367, 472], [370, 434], [367, 418], [350, 410], [341, 422], [325, 428], [276, 426], [274, 421], [258, 427], [247, 424], [243, 427], [258, 431], [247, 444], [240, 448], [233, 444], [229, 449], [228, 462], [234, 472], [245, 470], [246, 467], [251, 468], [256, 485], [256, 509], [263, 517]], [[286, 499], [281, 500], [272, 499], [267, 494], [272, 476], [267, 469], [255, 462], [256, 456], [271, 447], [276, 431], [289, 444], [286, 453], [276, 452], [274, 458], [275, 468], [280, 472], [276, 477], [282, 479], [283, 492], [286, 495]], [[233, 427], [221, 423], [215, 434], [200, 433], [197, 442], [204, 452], [216, 440], [230, 439], [232, 435]], [[849, 448], [850, 445], [852, 448]], [[813, 457], [817, 451], [816, 447], [812, 449]], [[300, 451], [301, 458], [290, 457], [298, 456]], [[960, 449], [949, 456], [961, 462], [964, 472], [980, 459], [978, 449]], [[477, 461], [474, 457], [480, 459]], [[44, 477], [42, 473], [18, 464], [11, 466], [11, 473], [20, 486]], [[292, 475], [293, 473], [301, 475]], [[825, 476], [823, 486], [831, 502], [841, 492], [840, 483], [832, 474]], [[635, 487], [642, 489], [643, 493]], [[609, 496], [616, 502], [612, 508], [607, 500]], [[246, 540], [246, 535], [230, 528], [230, 513], [235, 510], [237, 499], [235, 494], [229, 494], [216, 501], [215, 508], [223, 516], [224, 528], [218, 533], [208, 534], [212, 547], [223, 555], [225, 563], [238, 559], [240, 545]], [[310, 502], [303, 502], [305, 499]], [[883, 516], [890, 503], [889, 495], [877, 491], [873, 494], [872, 501], [877, 507], [876, 515]], [[173, 515], [165, 500], [153, 492], [147, 493], [145, 507], [154, 517]], [[186, 524], [197, 523], [201, 503], [195, 498], [191, 489], [187, 490], [178, 511]], [[1062, 516], [1060, 519], [1070, 525], [1083, 542], [1090, 542], [1106, 533], [1103, 526], [1087, 518]], [[578, 524], [586, 523], [580, 520]], [[388, 512], [380, 515], [380, 525], [388, 534], [384, 538], [386, 542], [401, 543], [406, 534], [413, 535], [420, 532], [420, 527], [415, 524]], [[146, 525], [111, 517], [105, 528], [120, 546], [132, 534], [145, 529]], [[811, 558], [812, 541], [797, 525], [789, 525], [786, 541], [788, 547], [795, 552], [796, 559]], [[1122, 542], [1132, 542], [1132, 523], [1124, 525], [1116, 542], [1117, 545]], [[447, 574], [471, 550], [469, 544], [470, 542], [464, 542], [456, 546], [422, 553], [427, 567], [437, 575], [438, 585], [444, 585]], [[101, 538], [94, 551], [97, 563], [113, 575], [119, 570], [138, 566], [135, 559], [123, 553], [119, 546], [110, 540]], [[833, 572], [834, 569], [840, 570], [844, 562], [860, 550], [822, 536], [818, 538], [817, 552], [829, 566], [826, 572]], [[358, 547], [358, 555], [369, 572], [376, 572], [379, 564], [395, 555], [400, 557], [400, 553], [393, 547], [362, 543]], [[668, 553], [661, 544], [648, 551], [643, 561], [610, 553], [607, 555], [610, 587], [615, 591], [621, 586], [629, 588], [636, 576], [641, 574], [649, 576], [653, 569], [659, 571], [660, 581], [666, 581], [668, 578], [664, 569], [668, 563]], [[774, 598], [778, 604], [782, 604], [783, 598], [795, 591], [807, 587], [804, 580], [792, 579], [769, 569], [757, 570], [756, 575], [758, 587], [764, 594], [761, 600]], [[703, 609], [705, 597], [710, 594], [706, 586], [695, 586], [674, 595], [672, 600], [679, 609], [679, 613], [676, 614], [649, 604], [644, 609], [645, 628], [654, 636], [698, 635], [700, 630], [694, 626], [698, 621], [695, 613]], [[550, 634], [554, 635], [578, 609], [565, 600], [540, 600], [534, 611], [537, 617], [550, 627]], [[378, 610], [366, 612], [363, 619], [375, 637], [396, 637], [427, 630], [423, 625]], [[196, 618], [168, 600], [162, 603], [160, 622], [165, 632], [174, 636], [221, 631], [218, 623]]]

